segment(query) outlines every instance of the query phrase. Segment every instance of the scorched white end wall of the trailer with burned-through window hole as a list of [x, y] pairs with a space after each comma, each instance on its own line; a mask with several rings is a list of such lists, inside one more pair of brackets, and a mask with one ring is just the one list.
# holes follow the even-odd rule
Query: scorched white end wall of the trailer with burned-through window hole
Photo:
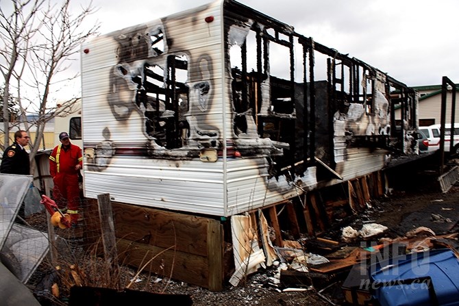
[[225, 214], [222, 162], [200, 156], [223, 148], [220, 23], [213, 3], [84, 45], [85, 196]]

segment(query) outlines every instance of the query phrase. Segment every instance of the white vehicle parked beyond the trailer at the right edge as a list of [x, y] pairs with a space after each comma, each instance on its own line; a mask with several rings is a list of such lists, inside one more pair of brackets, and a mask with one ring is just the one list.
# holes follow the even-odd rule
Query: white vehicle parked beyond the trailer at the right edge
[[[433, 152], [440, 149], [440, 129], [441, 125], [430, 125], [428, 127], [419, 127], [419, 130], [427, 136], [426, 140], [423, 140], [423, 144], [427, 146], [427, 152]], [[454, 144], [453, 152], [459, 153], [459, 123], [454, 123]], [[445, 124], [445, 152], [449, 152], [451, 146], [451, 124]]]

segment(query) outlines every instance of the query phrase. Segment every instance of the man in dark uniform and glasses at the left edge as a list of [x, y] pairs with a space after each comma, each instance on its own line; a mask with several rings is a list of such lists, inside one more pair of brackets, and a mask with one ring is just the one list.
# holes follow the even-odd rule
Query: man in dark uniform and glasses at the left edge
[[29, 175], [30, 162], [29, 153], [25, 151], [25, 146], [29, 144], [29, 136], [23, 130], [14, 133], [14, 142], [5, 149], [1, 159], [0, 173], [12, 175]]

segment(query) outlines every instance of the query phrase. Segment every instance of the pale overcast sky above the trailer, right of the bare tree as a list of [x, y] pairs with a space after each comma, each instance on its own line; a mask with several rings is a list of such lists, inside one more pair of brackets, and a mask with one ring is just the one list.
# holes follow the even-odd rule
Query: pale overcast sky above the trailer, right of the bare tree
[[[81, 0], [80, 0], [81, 1]], [[89, 3], [83, 0], [81, 3]], [[92, 0], [101, 34], [209, 0]], [[457, 0], [240, 0], [408, 86], [459, 83]]]

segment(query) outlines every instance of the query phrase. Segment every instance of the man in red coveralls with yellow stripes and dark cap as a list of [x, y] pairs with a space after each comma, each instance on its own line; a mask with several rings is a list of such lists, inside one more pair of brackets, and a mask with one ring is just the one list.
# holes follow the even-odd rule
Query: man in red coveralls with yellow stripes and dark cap
[[53, 178], [53, 199], [60, 209], [67, 207], [72, 225], [79, 219], [78, 173], [83, 166], [82, 149], [70, 142], [69, 134], [59, 134], [61, 144], [49, 156], [49, 173]]

